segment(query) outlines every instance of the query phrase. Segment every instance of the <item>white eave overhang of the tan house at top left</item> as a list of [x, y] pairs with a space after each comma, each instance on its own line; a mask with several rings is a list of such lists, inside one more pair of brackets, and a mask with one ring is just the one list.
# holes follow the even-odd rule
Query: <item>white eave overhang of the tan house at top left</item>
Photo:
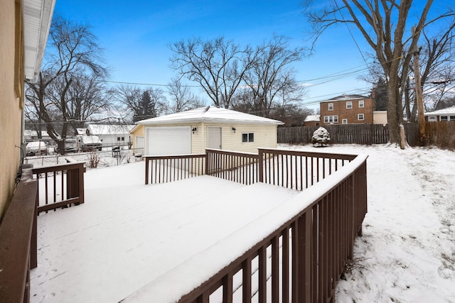
[[23, 49], [26, 79], [36, 80], [48, 40], [55, 0], [23, 0]]

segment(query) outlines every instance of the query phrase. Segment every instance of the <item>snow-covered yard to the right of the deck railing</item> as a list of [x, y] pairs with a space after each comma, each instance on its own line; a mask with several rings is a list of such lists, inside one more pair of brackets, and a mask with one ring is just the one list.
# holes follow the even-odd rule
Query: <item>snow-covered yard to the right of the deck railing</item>
[[318, 150], [369, 155], [363, 236], [335, 302], [455, 302], [455, 153], [386, 145]]

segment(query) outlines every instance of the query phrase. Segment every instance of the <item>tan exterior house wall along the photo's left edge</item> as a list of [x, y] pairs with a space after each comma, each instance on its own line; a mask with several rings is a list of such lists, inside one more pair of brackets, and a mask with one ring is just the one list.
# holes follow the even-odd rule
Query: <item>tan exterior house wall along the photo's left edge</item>
[[0, 9], [0, 221], [11, 200], [21, 162], [23, 33], [21, 1], [1, 1]]

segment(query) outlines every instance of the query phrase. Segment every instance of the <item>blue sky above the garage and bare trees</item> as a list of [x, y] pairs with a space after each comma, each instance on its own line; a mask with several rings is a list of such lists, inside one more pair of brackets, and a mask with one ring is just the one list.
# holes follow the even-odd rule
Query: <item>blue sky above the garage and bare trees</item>
[[[176, 75], [169, 68], [172, 53], [168, 45], [178, 40], [223, 35], [240, 45], [255, 46], [275, 34], [289, 37], [291, 47], [309, 47], [309, 25], [300, 3], [301, 0], [57, 0], [55, 13], [92, 26], [105, 49], [106, 62], [112, 67], [110, 80], [165, 85]], [[352, 28], [351, 32], [363, 54], [370, 52], [358, 31]], [[313, 84], [303, 101], [310, 108], [319, 107], [314, 103], [323, 99], [343, 93], [368, 94], [366, 89], [370, 89], [368, 83], [358, 79], [366, 65], [344, 25], [324, 33], [314, 54], [304, 57], [294, 68], [298, 81]], [[361, 72], [355, 72], [358, 70]], [[353, 75], [327, 78], [338, 72]]]

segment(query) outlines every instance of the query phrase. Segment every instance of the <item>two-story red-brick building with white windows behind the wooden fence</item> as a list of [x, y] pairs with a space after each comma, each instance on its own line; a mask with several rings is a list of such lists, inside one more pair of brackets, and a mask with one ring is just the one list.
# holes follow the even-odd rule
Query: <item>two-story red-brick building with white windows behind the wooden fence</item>
[[375, 108], [371, 97], [360, 94], [343, 94], [319, 104], [321, 125], [372, 124]]

